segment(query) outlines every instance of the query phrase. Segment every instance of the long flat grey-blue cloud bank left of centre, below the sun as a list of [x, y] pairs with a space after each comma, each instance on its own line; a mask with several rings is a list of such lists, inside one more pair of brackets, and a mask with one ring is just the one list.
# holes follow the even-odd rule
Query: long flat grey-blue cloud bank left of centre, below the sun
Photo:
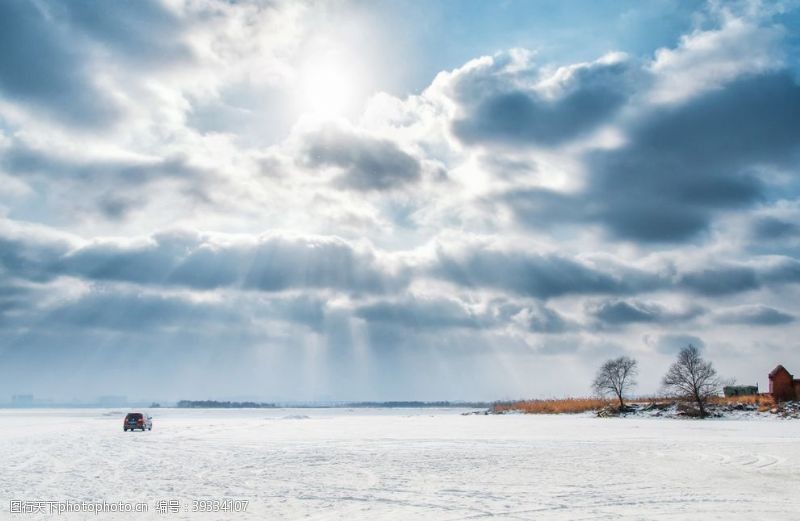
[[382, 292], [400, 281], [367, 252], [337, 239], [270, 237], [217, 245], [194, 235], [166, 234], [129, 248], [95, 244], [62, 260], [65, 271], [92, 279], [259, 291], [330, 288]]

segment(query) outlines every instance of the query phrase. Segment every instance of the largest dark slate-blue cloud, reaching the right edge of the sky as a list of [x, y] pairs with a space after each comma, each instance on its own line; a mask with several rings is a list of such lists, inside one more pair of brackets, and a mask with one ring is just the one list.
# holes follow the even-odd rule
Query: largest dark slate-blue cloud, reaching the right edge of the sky
[[646, 113], [622, 148], [585, 158], [583, 190], [526, 189], [502, 200], [530, 227], [597, 223], [622, 239], [686, 241], [720, 211], [763, 200], [759, 168], [796, 166], [798, 113], [800, 86], [791, 75], [748, 77]]

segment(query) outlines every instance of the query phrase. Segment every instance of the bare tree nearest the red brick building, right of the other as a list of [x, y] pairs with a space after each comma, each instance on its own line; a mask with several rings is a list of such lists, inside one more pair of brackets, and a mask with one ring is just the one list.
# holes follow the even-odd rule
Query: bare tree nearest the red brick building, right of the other
[[703, 360], [700, 351], [689, 344], [678, 353], [678, 359], [664, 376], [664, 387], [676, 396], [694, 401], [700, 417], [706, 416], [706, 402], [719, 394], [720, 380], [711, 362]]

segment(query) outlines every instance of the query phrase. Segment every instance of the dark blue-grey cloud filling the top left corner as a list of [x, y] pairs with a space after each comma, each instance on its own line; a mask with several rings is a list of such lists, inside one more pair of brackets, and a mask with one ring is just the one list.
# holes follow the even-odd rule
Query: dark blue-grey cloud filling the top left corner
[[0, 94], [71, 126], [106, 127], [123, 109], [97, 78], [189, 62], [183, 29], [155, 0], [2, 2]]

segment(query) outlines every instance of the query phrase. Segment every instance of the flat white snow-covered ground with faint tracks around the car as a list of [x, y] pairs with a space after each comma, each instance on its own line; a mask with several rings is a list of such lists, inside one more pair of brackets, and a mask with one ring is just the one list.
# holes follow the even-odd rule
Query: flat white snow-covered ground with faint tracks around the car
[[[794, 420], [155, 409], [152, 432], [125, 433], [124, 412], [0, 410], [0, 519], [800, 519]], [[247, 512], [190, 511], [225, 498]]]

